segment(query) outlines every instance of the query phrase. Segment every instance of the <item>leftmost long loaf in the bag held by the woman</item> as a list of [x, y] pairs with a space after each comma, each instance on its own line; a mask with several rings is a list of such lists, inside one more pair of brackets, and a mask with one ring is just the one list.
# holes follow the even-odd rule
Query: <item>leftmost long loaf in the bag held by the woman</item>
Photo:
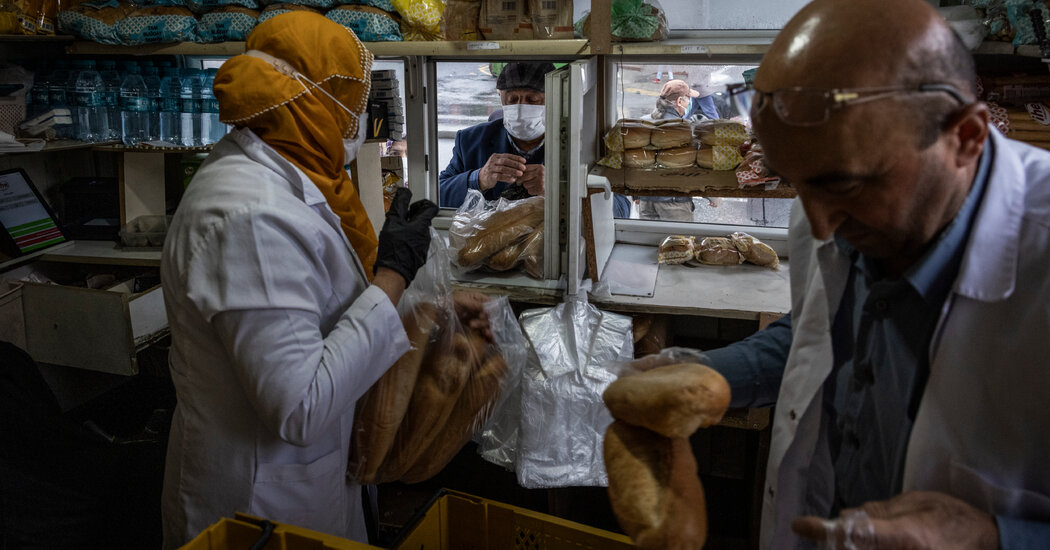
[[420, 303], [402, 322], [412, 347], [357, 401], [348, 471], [361, 485], [375, 483], [408, 409], [430, 336], [445, 319], [435, 305]]

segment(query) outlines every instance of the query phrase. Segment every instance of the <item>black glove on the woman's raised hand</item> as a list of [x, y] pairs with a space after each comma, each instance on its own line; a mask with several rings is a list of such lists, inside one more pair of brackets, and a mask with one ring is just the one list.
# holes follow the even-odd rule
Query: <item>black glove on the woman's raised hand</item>
[[426, 200], [412, 200], [412, 191], [400, 188], [394, 194], [386, 221], [379, 232], [379, 253], [374, 269], [390, 268], [402, 277], [405, 284], [416, 277], [416, 271], [426, 263], [430, 248], [430, 220], [438, 213], [438, 205]]

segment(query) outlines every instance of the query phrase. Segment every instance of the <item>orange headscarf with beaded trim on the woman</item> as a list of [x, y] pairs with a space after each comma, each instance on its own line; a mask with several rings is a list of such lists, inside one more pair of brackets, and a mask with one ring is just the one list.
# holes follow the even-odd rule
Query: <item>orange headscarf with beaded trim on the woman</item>
[[378, 240], [343, 169], [342, 139], [357, 135], [357, 118], [368, 106], [372, 52], [349, 28], [310, 12], [290, 12], [260, 23], [248, 36], [246, 49], [288, 62], [353, 111], [256, 57], [231, 58], [215, 75], [219, 119], [251, 129], [306, 172], [339, 216], [371, 278]]

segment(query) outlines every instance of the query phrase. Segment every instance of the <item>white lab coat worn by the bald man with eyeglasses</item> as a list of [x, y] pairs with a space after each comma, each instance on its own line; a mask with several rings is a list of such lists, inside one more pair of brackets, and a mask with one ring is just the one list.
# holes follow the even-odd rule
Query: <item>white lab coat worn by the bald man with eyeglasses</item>
[[[930, 342], [903, 489], [1050, 522], [1050, 153], [991, 133], [991, 174]], [[766, 467], [762, 548], [795, 548], [792, 521], [826, 513], [834, 491], [822, 384], [850, 263], [834, 241], [813, 238], [796, 207], [793, 341]], [[811, 488], [816, 498], [806, 502]]]

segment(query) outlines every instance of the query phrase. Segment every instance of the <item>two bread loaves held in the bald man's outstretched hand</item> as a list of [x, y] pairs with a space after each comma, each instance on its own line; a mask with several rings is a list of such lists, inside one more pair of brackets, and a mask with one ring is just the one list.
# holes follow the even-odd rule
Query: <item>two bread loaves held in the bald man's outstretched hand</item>
[[614, 419], [603, 445], [612, 510], [643, 550], [702, 548], [707, 505], [689, 437], [721, 420], [729, 383], [708, 366], [659, 355], [633, 365], [639, 374], [602, 396]]

